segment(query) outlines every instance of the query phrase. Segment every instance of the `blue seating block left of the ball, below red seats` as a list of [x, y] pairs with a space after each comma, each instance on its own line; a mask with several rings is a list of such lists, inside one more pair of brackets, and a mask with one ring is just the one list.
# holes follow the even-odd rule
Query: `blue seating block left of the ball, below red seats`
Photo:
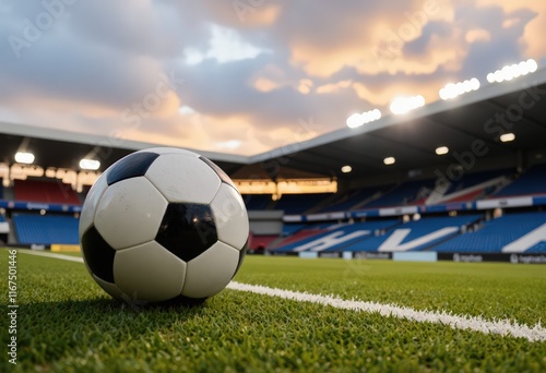
[[13, 215], [20, 244], [78, 244], [78, 224], [79, 219], [69, 215]]

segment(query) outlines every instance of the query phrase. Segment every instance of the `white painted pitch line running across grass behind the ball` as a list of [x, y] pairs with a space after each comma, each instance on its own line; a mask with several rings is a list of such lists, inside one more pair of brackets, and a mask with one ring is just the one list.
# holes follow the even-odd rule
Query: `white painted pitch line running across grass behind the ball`
[[[83, 258], [76, 256], [21, 250], [19, 250], [17, 252], [83, 263]], [[253, 292], [257, 294], [277, 297], [299, 302], [330, 305], [341, 310], [379, 313], [382, 316], [392, 316], [418, 323], [449, 325], [453, 329], [474, 330], [484, 334], [497, 334], [507, 337], [525, 338], [532, 342], [546, 341], [546, 329], [541, 326], [541, 323], [536, 324], [533, 327], [530, 327], [527, 325], [520, 325], [517, 322], [511, 322], [509, 320], [488, 321], [480, 316], [453, 315], [447, 313], [446, 311], [417, 311], [407, 306], [400, 306], [394, 304], [344, 300], [332, 296], [311, 294], [308, 292], [283, 290], [236, 281], [229, 282], [227, 288], [232, 290]]]

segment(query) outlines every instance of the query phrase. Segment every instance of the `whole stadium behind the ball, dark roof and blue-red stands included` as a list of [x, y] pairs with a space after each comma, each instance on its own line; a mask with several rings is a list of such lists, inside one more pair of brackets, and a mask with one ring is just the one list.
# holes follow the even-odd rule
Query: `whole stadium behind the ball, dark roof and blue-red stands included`
[[[436, 252], [453, 260], [505, 254], [518, 262], [518, 255], [546, 253], [545, 100], [543, 69], [264, 154], [195, 152], [233, 179], [337, 182], [336, 193], [245, 195], [250, 249], [257, 252], [337, 257]], [[301, 131], [312, 129], [302, 125], [295, 139]], [[506, 133], [515, 139], [502, 142]], [[134, 151], [161, 146], [13, 123], [0, 123], [0, 141], [4, 164], [13, 165], [24, 144], [35, 165], [75, 171], [90, 154], [104, 171]], [[437, 155], [439, 146], [448, 146], [449, 154]], [[385, 157], [395, 163], [385, 165]], [[347, 165], [352, 171], [342, 172]], [[78, 244], [85, 192], [45, 177], [10, 182], [0, 189], [0, 238], [33, 248]]]

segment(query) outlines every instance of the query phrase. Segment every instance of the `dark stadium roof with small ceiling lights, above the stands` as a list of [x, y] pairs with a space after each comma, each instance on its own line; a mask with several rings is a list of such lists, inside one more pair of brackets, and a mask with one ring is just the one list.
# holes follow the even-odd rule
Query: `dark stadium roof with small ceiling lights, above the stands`
[[[352, 166], [352, 178], [373, 177], [453, 164], [455, 152], [487, 151], [485, 157], [495, 157], [546, 149], [545, 100], [546, 69], [542, 69], [510, 82], [486, 84], [478, 91], [435, 101], [403, 116], [385, 116], [356, 129], [344, 128], [250, 157], [197, 152], [237, 178], [343, 178], [346, 176], [341, 168], [345, 165]], [[500, 134], [506, 132], [514, 133], [515, 140], [500, 142]], [[133, 151], [158, 146], [0, 122], [0, 160], [13, 163], [13, 155], [25, 139], [27, 148], [36, 156], [35, 164], [74, 169], [90, 154], [95, 154], [104, 170]], [[438, 146], [448, 146], [450, 153], [438, 156]], [[385, 157], [394, 157], [396, 163], [385, 166]]]

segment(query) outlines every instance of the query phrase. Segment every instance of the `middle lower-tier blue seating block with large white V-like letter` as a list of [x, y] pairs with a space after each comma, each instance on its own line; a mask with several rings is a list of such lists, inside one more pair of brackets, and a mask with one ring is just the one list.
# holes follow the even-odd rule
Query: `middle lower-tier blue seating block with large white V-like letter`
[[390, 229], [385, 234], [363, 238], [339, 251], [420, 251], [452, 238], [479, 220], [482, 215], [425, 217]]

